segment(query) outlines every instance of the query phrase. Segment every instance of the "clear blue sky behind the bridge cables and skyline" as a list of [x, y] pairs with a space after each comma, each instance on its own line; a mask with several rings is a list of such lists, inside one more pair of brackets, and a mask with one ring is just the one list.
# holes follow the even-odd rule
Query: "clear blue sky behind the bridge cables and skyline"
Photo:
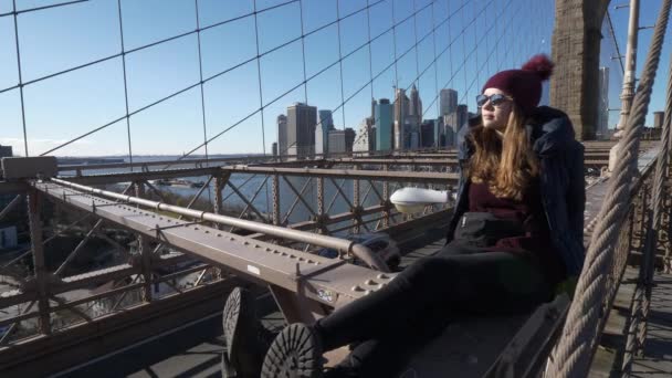
[[[17, 0], [17, 8], [60, 2]], [[334, 109], [351, 97], [335, 112], [334, 123], [337, 128], [357, 128], [369, 115], [371, 95], [390, 98], [395, 83], [409, 87], [414, 82], [426, 118], [437, 116], [432, 102], [442, 87], [458, 90], [461, 102], [474, 111], [473, 97], [490, 75], [518, 67], [534, 53], [550, 52], [553, 1], [368, 3], [367, 12], [363, 10], [366, 0], [122, 0], [124, 49], [129, 51], [125, 55], [128, 112], [133, 114], [128, 125], [117, 0], [21, 13], [17, 29], [22, 81], [29, 83], [23, 88], [28, 153], [43, 154], [108, 124], [54, 154], [128, 155], [128, 139], [134, 155], [204, 154], [199, 146], [210, 138], [214, 138], [208, 144], [210, 154], [270, 153], [276, 139], [275, 118], [293, 102]], [[200, 33], [202, 66], [198, 35], [189, 33], [197, 28], [197, 4], [198, 22], [207, 28]], [[254, 8], [260, 11], [256, 22], [251, 15]], [[653, 24], [658, 8], [659, 1], [642, 2], [642, 25]], [[0, 14], [11, 10], [11, 0], [0, 0]], [[628, 11], [611, 6], [610, 12], [624, 54]], [[355, 14], [334, 22], [350, 13]], [[395, 23], [392, 32], [389, 29]], [[367, 44], [369, 25], [371, 38], [378, 38]], [[303, 40], [302, 29], [309, 34]], [[181, 34], [186, 35], [134, 50]], [[651, 34], [650, 30], [640, 33], [638, 69]], [[258, 38], [259, 65], [254, 59]], [[651, 109], [661, 108], [664, 101], [669, 42], [666, 39], [660, 71], [664, 74], [658, 77]], [[612, 48], [603, 49], [607, 55], [608, 49]], [[395, 54], [403, 53], [393, 64]], [[343, 64], [334, 64], [346, 55]], [[97, 60], [104, 61], [41, 80]], [[602, 61], [616, 63], [608, 57]], [[19, 83], [17, 66], [14, 18], [0, 17], [0, 144], [23, 154], [20, 91], [12, 88]], [[372, 76], [376, 78], [368, 85]], [[309, 81], [302, 85], [304, 77]], [[612, 107], [620, 106], [620, 80], [612, 75], [617, 81], [610, 85]], [[262, 105], [263, 112], [258, 112]]]

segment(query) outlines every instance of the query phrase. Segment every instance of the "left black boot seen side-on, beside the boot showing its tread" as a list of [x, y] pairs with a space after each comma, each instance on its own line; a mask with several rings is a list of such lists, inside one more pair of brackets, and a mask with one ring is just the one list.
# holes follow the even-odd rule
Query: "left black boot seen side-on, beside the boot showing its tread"
[[259, 377], [271, 339], [256, 316], [250, 291], [233, 288], [224, 305], [222, 323], [227, 343], [227, 350], [222, 354], [222, 377]]

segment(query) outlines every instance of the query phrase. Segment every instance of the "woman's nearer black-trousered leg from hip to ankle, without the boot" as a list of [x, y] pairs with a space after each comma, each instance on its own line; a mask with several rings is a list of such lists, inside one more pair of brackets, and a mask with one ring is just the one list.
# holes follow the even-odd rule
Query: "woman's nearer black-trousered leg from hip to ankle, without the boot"
[[550, 300], [552, 292], [527, 255], [440, 253], [418, 261], [381, 290], [317, 321], [314, 328], [323, 349], [329, 350], [380, 339], [408, 324], [427, 324], [422, 321], [431, 317], [430, 323], [437, 323], [519, 312]]

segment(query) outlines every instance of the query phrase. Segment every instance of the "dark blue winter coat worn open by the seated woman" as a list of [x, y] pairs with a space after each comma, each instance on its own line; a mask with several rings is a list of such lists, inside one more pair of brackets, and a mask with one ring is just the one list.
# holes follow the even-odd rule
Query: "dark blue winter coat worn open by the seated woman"
[[[553, 245], [560, 254], [566, 273], [577, 276], [584, 265], [584, 210], [586, 181], [584, 177], [584, 146], [574, 137], [574, 127], [567, 115], [558, 109], [542, 106], [527, 124], [527, 135], [540, 162], [542, 201]], [[452, 240], [462, 214], [469, 211], [470, 180], [463, 169], [474, 153], [466, 139], [469, 127], [458, 135], [460, 181], [448, 241]]]

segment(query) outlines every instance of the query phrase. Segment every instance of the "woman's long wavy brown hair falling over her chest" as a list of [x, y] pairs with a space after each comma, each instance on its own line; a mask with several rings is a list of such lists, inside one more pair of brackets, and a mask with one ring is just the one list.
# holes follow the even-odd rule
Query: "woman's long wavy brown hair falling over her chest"
[[525, 120], [521, 108], [513, 103], [502, 138], [483, 125], [471, 133], [475, 153], [468, 175], [473, 182], [486, 182], [496, 197], [522, 200], [525, 189], [539, 174], [539, 162], [529, 146]]

